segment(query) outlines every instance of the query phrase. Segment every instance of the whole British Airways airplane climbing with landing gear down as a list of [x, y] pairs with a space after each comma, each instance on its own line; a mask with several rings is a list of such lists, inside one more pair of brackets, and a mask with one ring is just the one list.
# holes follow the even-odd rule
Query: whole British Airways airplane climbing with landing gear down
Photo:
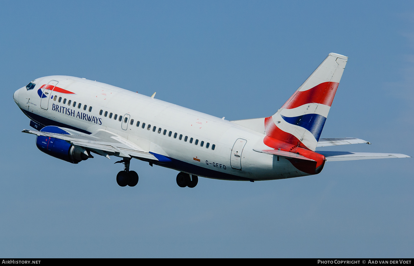
[[29, 117], [42, 152], [77, 164], [93, 154], [116, 163], [121, 187], [135, 186], [132, 158], [179, 171], [176, 182], [194, 188], [198, 177], [275, 180], [310, 176], [326, 161], [410, 157], [405, 154], [315, 151], [367, 143], [320, 138], [348, 57], [330, 53], [275, 114], [229, 121], [105, 83], [72, 76], [36, 78], [13, 99]]

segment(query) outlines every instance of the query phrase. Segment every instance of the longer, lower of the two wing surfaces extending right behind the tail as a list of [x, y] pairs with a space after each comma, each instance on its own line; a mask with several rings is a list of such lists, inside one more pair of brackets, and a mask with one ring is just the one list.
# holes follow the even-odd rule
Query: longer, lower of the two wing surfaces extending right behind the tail
[[386, 158], [409, 158], [411, 156], [400, 153], [377, 153], [377, 152], [327, 152], [315, 151], [325, 156], [326, 161], [351, 161], [365, 159]]

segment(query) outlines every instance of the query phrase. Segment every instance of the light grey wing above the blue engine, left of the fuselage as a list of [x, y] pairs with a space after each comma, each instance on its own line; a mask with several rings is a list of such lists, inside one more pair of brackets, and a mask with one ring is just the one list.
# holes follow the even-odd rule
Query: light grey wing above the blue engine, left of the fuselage
[[158, 159], [153, 154], [144, 151], [137, 145], [129, 142], [128, 140], [125, 140], [124, 138], [114, 133], [111, 133], [110, 131], [98, 130], [91, 135], [87, 135], [69, 128], [62, 129], [70, 133], [70, 135], [35, 131], [30, 129], [25, 129], [22, 132], [34, 134], [37, 136], [66, 140], [72, 145], [88, 148], [89, 150], [105, 156], [108, 159], [109, 155], [115, 155], [118, 157], [139, 157], [158, 161]]

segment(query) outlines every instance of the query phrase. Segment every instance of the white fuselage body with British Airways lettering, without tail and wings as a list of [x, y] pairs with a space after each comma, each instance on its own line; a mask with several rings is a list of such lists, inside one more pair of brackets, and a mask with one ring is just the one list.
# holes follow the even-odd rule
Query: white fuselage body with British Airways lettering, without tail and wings
[[[58, 81], [57, 87], [72, 93], [52, 91], [48, 97], [41, 98], [39, 88], [52, 80]], [[146, 152], [173, 159], [172, 164], [159, 164], [161, 166], [197, 176], [228, 180], [271, 180], [308, 175], [283, 157], [277, 160], [274, 155], [253, 151], [269, 149], [263, 143], [265, 135], [231, 121], [82, 78], [47, 76], [33, 83], [36, 83], [34, 89], [26, 90], [23, 87], [14, 95], [17, 105], [31, 120], [44, 126], [61, 126], [88, 133], [98, 129], [111, 131]], [[58, 102], [60, 97], [62, 99]], [[75, 107], [73, 102], [76, 102]], [[108, 112], [106, 116], [105, 112]], [[109, 118], [110, 113], [113, 114], [112, 118]], [[117, 119], [114, 119], [115, 114]], [[132, 124], [131, 119], [134, 120]], [[139, 126], [136, 126], [137, 121], [140, 121]], [[150, 128], [148, 125], [151, 125]], [[170, 131], [172, 134], [168, 136]], [[192, 143], [190, 138], [193, 138]], [[231, 161], [233, 145], [238, 139], [245, 142], [243, 150], [238, 152], [241, 169], [233, 168], [234, 162]], [[200, 147], [201, 142], [203, 147]]]

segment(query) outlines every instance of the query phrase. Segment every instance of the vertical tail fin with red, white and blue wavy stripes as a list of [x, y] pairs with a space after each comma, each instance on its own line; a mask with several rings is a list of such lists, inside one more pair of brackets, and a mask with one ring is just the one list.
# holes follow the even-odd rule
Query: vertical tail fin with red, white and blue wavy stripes
[[265, 118], [265, 134], [314, 151], [347, 61], [330, 53], [282, 108]]

